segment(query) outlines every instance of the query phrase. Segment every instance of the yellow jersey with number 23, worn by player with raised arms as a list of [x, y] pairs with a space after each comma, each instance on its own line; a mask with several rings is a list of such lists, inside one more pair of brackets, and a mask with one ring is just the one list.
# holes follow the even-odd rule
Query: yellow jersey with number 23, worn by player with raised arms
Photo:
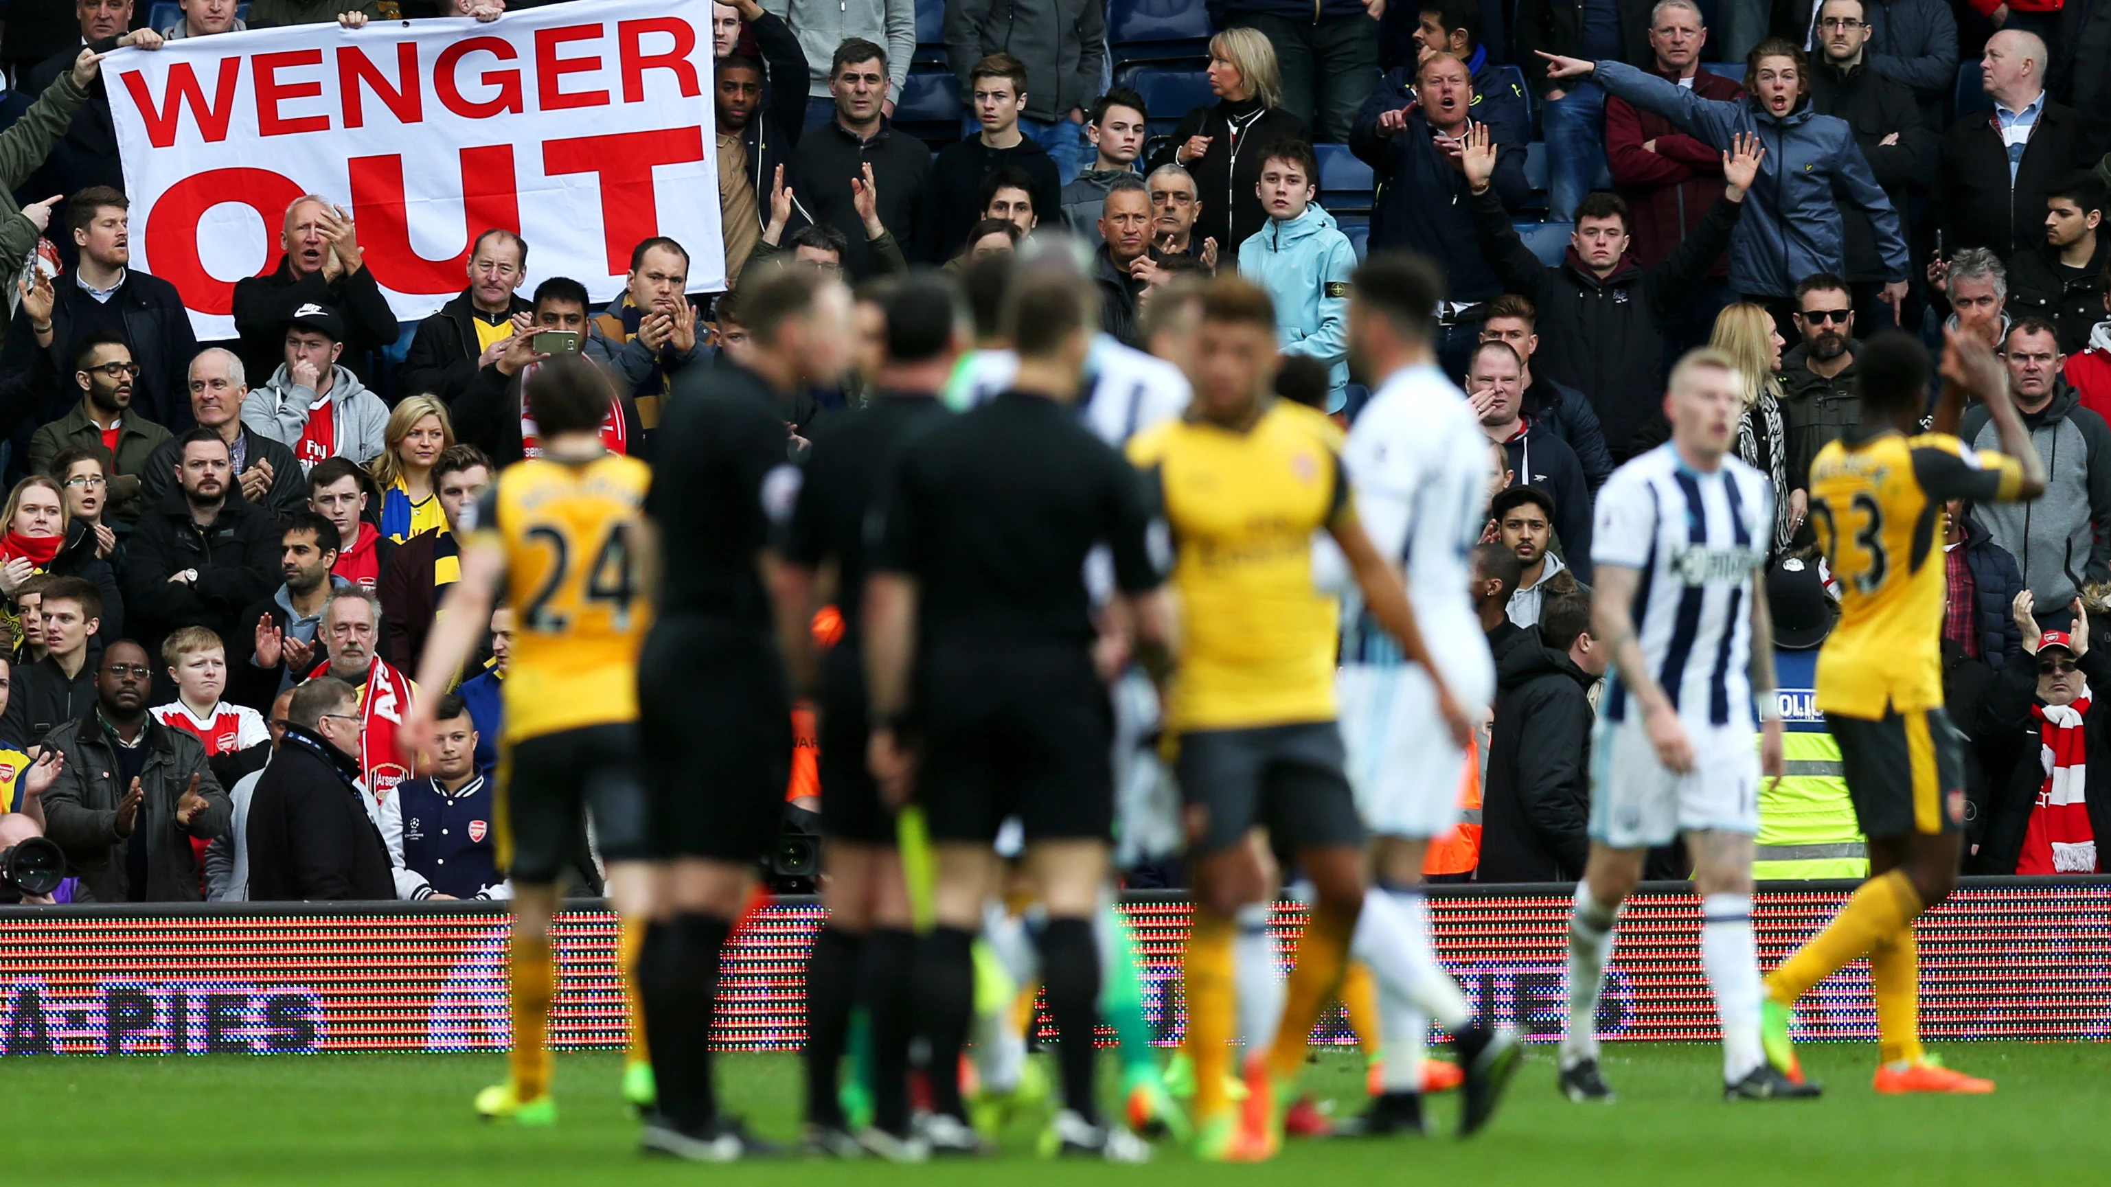
[[1841, 585], [1818, 653], [1818, 708], [1883, 718], [1942, 703], [1942, 503], [2016, 498], [2016, 458], [1946, 433], [1830, 441], [1811, 463], [1811, 526]]

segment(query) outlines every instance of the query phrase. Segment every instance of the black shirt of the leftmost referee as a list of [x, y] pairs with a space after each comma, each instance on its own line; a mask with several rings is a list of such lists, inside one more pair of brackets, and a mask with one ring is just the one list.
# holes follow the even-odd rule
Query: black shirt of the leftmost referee
[[[690, 368], [652, 441], [646, 515], [661, 536], [659, 617], [768, 627], [756, 553], [792, 509], [798, 469], [777, 397], [747, 368]], [[773, 513], [771, 503], [777, 503]]]

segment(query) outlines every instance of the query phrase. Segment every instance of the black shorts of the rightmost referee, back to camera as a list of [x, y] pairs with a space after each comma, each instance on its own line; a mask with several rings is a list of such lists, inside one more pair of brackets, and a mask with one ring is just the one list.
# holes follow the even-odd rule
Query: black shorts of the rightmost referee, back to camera
[[931, 836], [1106, 841], [1115, 830], [1115, 705], [1085, 644], [939, 646], [916, 691], [918, 777]]

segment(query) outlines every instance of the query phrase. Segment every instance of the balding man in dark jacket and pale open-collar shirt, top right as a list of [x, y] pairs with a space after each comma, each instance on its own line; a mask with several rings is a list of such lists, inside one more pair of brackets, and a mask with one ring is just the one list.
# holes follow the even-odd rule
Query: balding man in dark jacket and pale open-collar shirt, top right
[[1959, 116], [1942, 135], [1938, 226], [1948, 251], [1989, 247], [2003, 262], [2046, 241], [2046, 192], [2088, 169], [2081, 118], [2046, 95], [2046, 42], [2003, 30], [1980, 57], [1993, 114]]

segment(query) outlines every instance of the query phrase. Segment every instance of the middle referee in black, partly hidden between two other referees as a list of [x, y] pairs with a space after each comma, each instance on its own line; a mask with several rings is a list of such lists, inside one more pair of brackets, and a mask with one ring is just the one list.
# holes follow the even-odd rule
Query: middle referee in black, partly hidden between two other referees
[[[878, 298], [887, 321], [887, 353], [866, 408], [823, 420], [806, 456], [792, 522], [783, 532], [777, 600], [783, 604], [785, 661], [794, 689], [806, 693], [813, 661], [811, 621], [821, 604], [823, 572], [834, 568], [834, 602], [849, 610], [842, 638], [819, 661], [821, 701], [821, 902], [828, 923], [806, 961], [806, 1149], [855, 1157], [872, 1151], [891, 1160], [920, 1157], [910, 1134], [910, 1037], [914, 1005], [910, 963], [916, 934], [895, 811], [866, 769], [866, 665], [857, 606], [866, 596], [866, 513], [882, 465], [897, 444], [948, 418], [939, 389], [967, 348], [952, 287], [914, 279]], [[866, 1005], [872, 1026], [874, 1128], [847, 1132], [836, 1069], [842, 1062], [851, 1007]]]

